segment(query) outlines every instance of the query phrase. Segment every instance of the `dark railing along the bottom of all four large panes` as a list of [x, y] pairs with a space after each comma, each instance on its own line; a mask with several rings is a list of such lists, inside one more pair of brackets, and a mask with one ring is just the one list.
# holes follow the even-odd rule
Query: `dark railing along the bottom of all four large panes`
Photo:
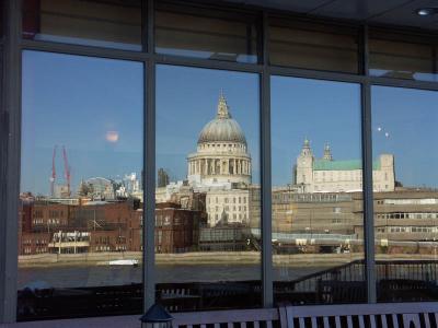
[[[378, 260], [378, 301], [438, 300], [436, 260]], [[362, 260], [301, 277], [275, 281], [277, 304], [365, 303]], [[140, 314], [142, 284], [19, 291], [20, 320]], [[261, 281], [157, 284], [157, 301], [172, 312], [262, 306]]]

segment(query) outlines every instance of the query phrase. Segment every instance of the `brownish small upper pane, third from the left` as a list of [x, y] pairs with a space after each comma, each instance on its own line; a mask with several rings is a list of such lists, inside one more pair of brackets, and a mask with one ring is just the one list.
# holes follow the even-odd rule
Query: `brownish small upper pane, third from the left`
[[269, 26], [272, 65], [358, 73], [358, 33], [346, 26], [274, 20]]

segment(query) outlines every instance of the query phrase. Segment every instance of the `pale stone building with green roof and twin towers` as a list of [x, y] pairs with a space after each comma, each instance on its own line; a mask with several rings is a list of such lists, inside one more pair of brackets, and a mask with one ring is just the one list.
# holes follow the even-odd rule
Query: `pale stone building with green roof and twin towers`
[[[295, 185], [301, 192], [351, 192], [362, 190], [362, 165], [360, 160], [335, 161], [328, 145], [322, 159], [315, 159], [310, 141], [304, 140], [293, 169]], [[381, 154], [372, 163], [374, 191], [394, 191], [394, 156]]]

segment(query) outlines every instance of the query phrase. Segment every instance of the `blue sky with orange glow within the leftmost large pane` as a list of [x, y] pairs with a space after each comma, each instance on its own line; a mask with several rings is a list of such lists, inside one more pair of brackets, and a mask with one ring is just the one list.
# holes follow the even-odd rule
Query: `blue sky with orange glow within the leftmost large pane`
[[141, 63], [25, 51], [21, 190], [49, 192], [55, 144], [57, 181], [65, 181], [66, 145], [73, 190], [81, 178], [140, 172], [142, 91]]

